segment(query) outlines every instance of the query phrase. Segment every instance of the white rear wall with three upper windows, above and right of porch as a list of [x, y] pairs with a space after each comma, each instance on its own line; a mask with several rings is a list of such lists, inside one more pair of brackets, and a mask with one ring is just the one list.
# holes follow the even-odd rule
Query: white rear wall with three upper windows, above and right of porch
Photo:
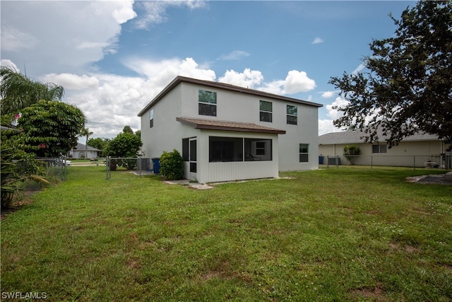
[[[180, 85], [179, 85], [180, 86]], [[198, 115], [198, 90], [205, 89], [217, 93], [217, 116]], [[312, 170], [319, 168], [319, 121], [318, 108], [299, 103], [290, 103], [272, 98], [260, 98], [234, 91], [202, 88], [191, 83], [182, 83], [183, 117], [207, 120], [227, 120], [231, 122], [251, 122], [266, 127], [286, 130], [279, 135], [279, 170]], [[272, 122], [259, 120], [259, 100], [272, 102]], [[287, 105], [297, 106], [297, 124], [287, 124]], [[299, 162], [299, 144], [309, 144], [309, 162]]]

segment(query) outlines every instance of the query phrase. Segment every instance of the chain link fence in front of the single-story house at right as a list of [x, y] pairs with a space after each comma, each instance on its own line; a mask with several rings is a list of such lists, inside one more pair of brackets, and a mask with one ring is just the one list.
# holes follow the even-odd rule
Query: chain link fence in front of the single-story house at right
[[[393, 167], [410, 167], [410, 168], [443, 168], [452, 169], [452, 155], [444, 154], [439, 156], [321, 156], [324, 165], [338, 166], [350, 165], [350, 160], [354, 165], [375, 166], [393, 166]], [[320, 163], [320, 157], [319, 157]]]

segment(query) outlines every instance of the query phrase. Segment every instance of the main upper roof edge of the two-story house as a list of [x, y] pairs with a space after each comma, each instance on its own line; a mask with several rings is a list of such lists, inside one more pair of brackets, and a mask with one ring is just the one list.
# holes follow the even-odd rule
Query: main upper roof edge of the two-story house
[[175, 88], [177, 85], [179, 85], [179, 83], [192, 83], [192, 84], [210, 87], [210, 88], [217, 88], [217, 89], [223, 89], [223, 90], [227, 90], [227, 91], [235, 91], [238, 93], [244, 93], [244, 94], [249, 94], [249, 95], [256, 95], [256, 96], [259, 96], [262, 98], [274, 98], [276, 100], [285, 100], [285, 101], [291, 102], [291, 103], [298, 103], [298, 104], [309, 105], [309, 106], [314, 106], [314, 107], [322, 107], [323, 106], [318, 103], [308, 102], [307, 100], [299, 100], [297, 98], [288, 98], [287, 96], [283, 96], [283, 95], [266, 93], [264, 91], [257, 91], [254, 89], [244, 88], [244, 87], [240, 87], [240, 86], [234, 86], [234, 85], [227, 84], [227, 83], [192, 79], [192, 78], [187, 78], [186, 76], [177, 76], [171, 83], [168, 84], [168, 86], [166, 86], [162, 91], [160, 91], [160, 93], [157, 94], [157, 96], [155, 96], [155, 98], [153, 100], [151, 100], [150, 103], [148, 103], [148, 105], [145, 106], [145, 108], [143, 108], [143, 110], [141, 110], [138, 113], [138, 117], [143, 116], [145, 114], [145, 112], [149, 110], [149, 108], [151, 108], [155, 103], [157, 103], [165, 95], [167, 95], [167, 93], [169, 93], [169, 91], [172, 91], [172, 89]]

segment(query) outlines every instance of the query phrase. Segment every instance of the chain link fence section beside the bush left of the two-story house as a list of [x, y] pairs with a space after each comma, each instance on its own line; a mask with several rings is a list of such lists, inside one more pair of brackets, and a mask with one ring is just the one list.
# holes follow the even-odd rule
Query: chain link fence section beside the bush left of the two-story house
[[112, 179], [115, 173], [133, 173], [138, 176], [154, 174], [152, 158], [107, 157], [105, 167], [107, 180]]

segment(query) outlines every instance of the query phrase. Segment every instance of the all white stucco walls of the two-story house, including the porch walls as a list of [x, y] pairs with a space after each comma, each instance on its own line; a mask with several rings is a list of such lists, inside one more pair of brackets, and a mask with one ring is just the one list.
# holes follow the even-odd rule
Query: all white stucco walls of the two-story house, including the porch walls
[[[217, 93], [217, 116], [198, 114], [198, 90]], [[273, 121], [259, 120], [259, 100], [273, 104]], [[287, 124], [286, 105], [297, 106], [297, 125]], [[150, 110], [154, 112], [150, 128]], [[160, 157], [163, 151], [177, 149], [182, 154], [182, 139], [196, 137], [197, 173], [189, 173], [185, 163], [185, 177], [198, 182], [221, 182], [254, 178], [278, 178], [278, 170], [310, 170], [318, 168], [318, 108], [272, 98], [260, 98], [235, 91], [213, 89], [179, 83], [141, 116], [141, 148], [145, 157]], [[205, 120], [248, 122], [286, 130], [286, 134], [262, 134], [194, 129], [176, 121], [176, 117]], [[243, 137], [272, 139], [272, 161], [240, 161], [230, 163], [209, 162], [209, 137]], [[299, 163], [299, 144], [309, 144], [309, 162]]]

